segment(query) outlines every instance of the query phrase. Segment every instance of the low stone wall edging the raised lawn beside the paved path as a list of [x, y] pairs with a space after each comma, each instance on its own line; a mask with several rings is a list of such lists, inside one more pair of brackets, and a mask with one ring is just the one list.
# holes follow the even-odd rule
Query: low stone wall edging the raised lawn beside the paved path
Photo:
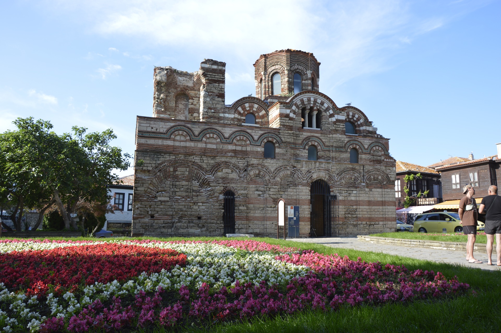
[[[362, 235], [357, 236], [357, 238], [358, 240], [364, 242], [371, 242], [376, 244], [435, 248], [439, 250], [466, 251], [466, 243], [462, 242], [443, 242], [438, 240], [402, 239], [402, 238], [388, 238], [388, 237], [362, 236]], [[485, 244], [475, 243], [475, 245], [473, 245], [473, 250], [476, 252], [487, 253], [485, 249]], [[494, 248], [492, 249], [492, 253], [493, 254], [496, 253], [495, 245]]]

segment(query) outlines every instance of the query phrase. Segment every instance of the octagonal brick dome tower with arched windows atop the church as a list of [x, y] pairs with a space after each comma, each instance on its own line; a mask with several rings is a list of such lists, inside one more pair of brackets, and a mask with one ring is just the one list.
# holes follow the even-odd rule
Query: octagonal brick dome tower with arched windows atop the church
[[320, 63], [313, 53], [280, 50], [261, 55], [254, 63], [256, 97], [292, 96], [303, 90], [319, 90]]

